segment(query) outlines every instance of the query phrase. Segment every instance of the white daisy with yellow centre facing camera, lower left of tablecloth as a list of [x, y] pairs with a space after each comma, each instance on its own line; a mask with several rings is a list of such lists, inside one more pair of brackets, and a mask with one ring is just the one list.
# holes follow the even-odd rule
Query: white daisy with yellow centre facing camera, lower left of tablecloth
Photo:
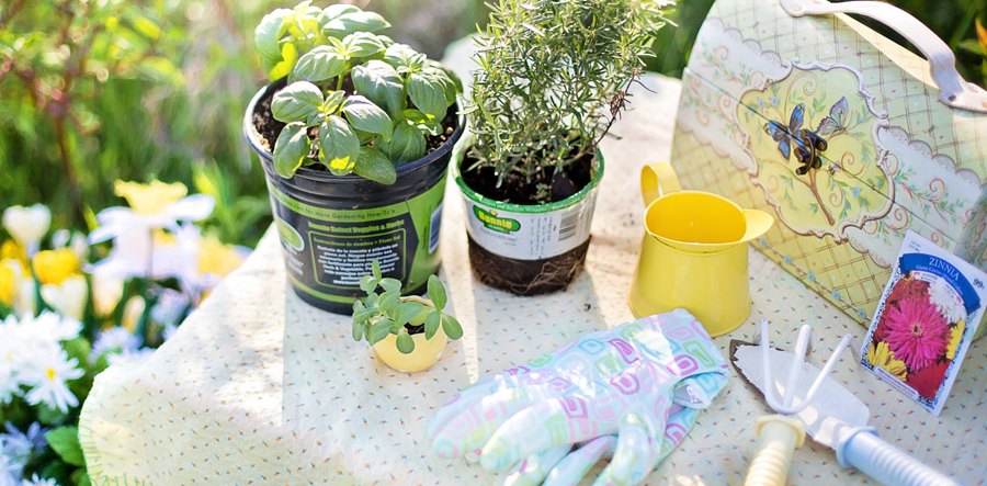
[[68, 412], [70, 407], [79, 405], [79, 399], [66, 386], [66, 382], [78, 380], [86, 374], [77, 368], [79, 360], [68, 358], [64, 349], [55, 352], [37, 353], [27, 359], [20, 376], [23, 382], [32, 386], [27, 392], [27, 403], [31, 405], [45, 404], [61, 412]]

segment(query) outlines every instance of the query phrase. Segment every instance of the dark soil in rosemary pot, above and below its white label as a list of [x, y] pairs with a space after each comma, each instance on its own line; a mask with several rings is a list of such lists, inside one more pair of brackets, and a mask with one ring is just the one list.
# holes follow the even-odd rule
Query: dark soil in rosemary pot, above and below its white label
[[[593, 179], [592, 152], [556, 172], [545, 171], [531, 182], [518, 174], [509, 174], [500, 187], [494, 169], [469, 169], [475, 162], [464, 157], [460, 170], [463, 181], [474, 191], [495, 201], [535, 205], [540, 184], [548, 184], [551, 202], [564, 201], [577, 194]], [[582, 270], [590, 239], [578, 247], [549, 258], [517, 260], [494, 253], [467, 235], [469, 262], [477, 280], [495, 289], [517, 295], [540, 295], [565, 290]]]

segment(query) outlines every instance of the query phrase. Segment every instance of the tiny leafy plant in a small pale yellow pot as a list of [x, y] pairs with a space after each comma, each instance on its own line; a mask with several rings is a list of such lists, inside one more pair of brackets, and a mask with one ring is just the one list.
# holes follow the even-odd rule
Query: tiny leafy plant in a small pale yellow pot
[[431, 275], [429, 299], [402, 296], [401, 282], [384, 276], [376, 260], [372, 272], [360, 280], [366, 298], [353, 303], [353, 339], [366, 339], [374, 353], [397, 371], [415, 373], [435, 364], [449, 340], [463, 337], [456, 318], [442, 312], [445, 286]]

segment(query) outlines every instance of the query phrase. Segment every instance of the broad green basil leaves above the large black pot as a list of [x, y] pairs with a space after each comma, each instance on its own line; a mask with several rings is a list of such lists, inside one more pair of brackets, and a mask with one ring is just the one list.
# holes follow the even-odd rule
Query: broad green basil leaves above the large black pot
[[[354, 5], [321, 10], [309, 1], [277, 9], [257, 26], [268, 75], [288, 78], [271, 103], [274, 118], [287, 124], [274, 144], [279, 176], [321, 163], [337, 176], [393, 184], [396, 166], [424, 156], [423, 133], [441, 129], [462, 83], [424, 54], [374, 34], [388, 26]], [[347, 79], [353, 92], [343, 91]]]

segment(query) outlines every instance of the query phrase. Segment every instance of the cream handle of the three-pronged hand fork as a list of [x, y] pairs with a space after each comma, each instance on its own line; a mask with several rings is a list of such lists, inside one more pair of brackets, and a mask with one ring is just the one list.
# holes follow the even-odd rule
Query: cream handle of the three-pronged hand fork
[[795, 448], [805, 442], [798, 420], [768, 415], [758, 419], [758, 452], [750, 461], [744, 486], [785, 486]]

